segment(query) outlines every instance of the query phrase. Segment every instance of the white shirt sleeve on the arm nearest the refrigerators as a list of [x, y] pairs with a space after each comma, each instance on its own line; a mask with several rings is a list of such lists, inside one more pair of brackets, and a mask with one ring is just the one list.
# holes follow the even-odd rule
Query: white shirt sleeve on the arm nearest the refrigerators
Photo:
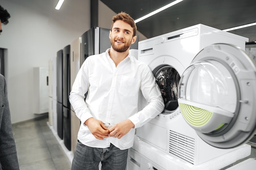
[[85, 60], [76, 75], [69, 97], [70, 104], [74, 108], [76, 116], [80, 119], [81, 123], [84, 123], [87, 119], [92, 117], [92, 114], [85, 103], [85, 94], [88, 92], [90, 86], [88, 70], [89, 62], [88, 60]]

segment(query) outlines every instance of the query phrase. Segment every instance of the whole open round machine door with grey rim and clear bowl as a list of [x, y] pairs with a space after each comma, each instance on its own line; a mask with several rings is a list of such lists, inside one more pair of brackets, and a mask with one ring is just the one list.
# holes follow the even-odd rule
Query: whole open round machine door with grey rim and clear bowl
[[205, 47], [180, 78], [182, 115], [211, 146], [234, 148], [253, 137], [255, 103], [256, 64], [236, 46]]

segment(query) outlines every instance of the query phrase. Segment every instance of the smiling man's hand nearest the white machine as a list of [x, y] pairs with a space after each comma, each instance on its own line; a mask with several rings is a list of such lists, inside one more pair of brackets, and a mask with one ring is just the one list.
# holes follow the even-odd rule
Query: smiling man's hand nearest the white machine
[[130, 119], [127, 119], [109, 128], [109, 135], [110, 137], [113, 136], [118, 137], [118, 139], [120, 139], [121, 137], [126, 135], [131, 130], [131, 128], [134, 128], [134, 124], [132, 123], [132, 121], [130, 121]]

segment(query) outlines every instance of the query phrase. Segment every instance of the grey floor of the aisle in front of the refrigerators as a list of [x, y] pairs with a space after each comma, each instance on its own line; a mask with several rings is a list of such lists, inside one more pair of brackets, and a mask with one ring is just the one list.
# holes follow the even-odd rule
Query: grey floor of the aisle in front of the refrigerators
[[13, 124], [20, 170], [70, 170], [71, 163], [47, 121], [41, 118]]

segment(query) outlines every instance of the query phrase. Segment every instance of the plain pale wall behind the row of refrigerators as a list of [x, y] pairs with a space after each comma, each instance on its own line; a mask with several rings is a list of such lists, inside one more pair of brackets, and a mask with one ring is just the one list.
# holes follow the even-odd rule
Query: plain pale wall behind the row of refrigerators
[[48, 60], [90, 29], [90, 0], [1, 0], [11, 18], [2, 25], [0, 48], [8, 49], [7, 90], [11, 121], [35, 117], [33, 67], [48, 67]]

